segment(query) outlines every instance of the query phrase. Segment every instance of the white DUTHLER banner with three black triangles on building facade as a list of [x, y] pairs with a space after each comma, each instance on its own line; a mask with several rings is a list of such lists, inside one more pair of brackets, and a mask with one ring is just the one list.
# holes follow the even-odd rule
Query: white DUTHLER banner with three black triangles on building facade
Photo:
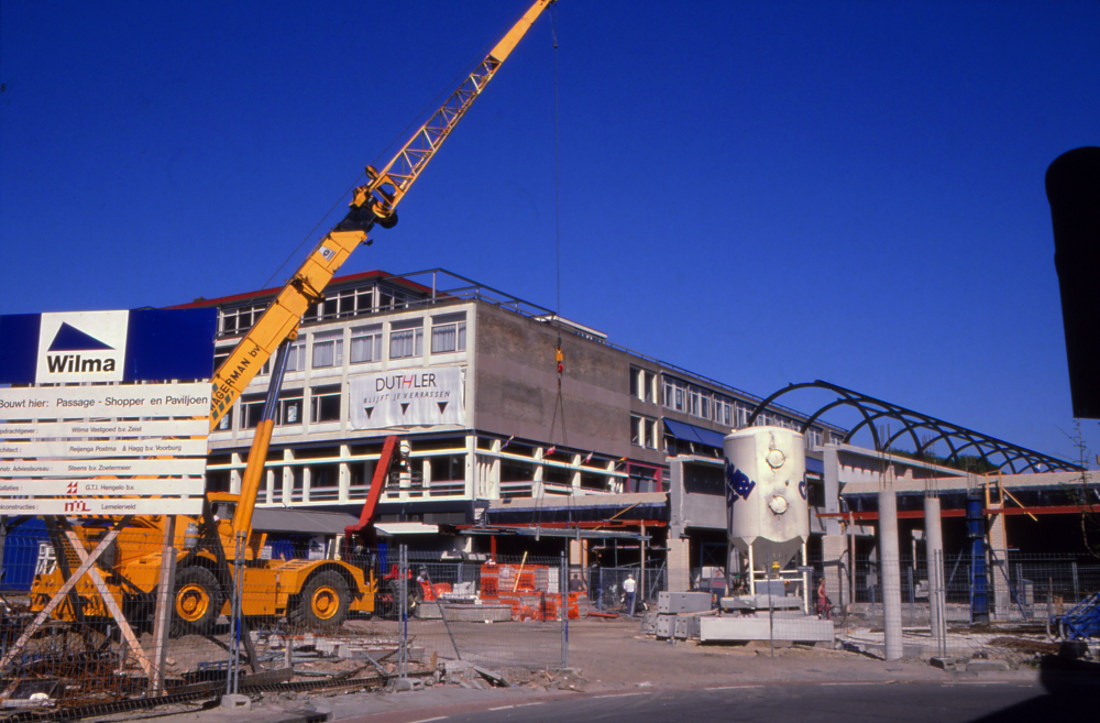
[[353, 429], [466, 425], [465, 370], [431, 366], [351, 377]]

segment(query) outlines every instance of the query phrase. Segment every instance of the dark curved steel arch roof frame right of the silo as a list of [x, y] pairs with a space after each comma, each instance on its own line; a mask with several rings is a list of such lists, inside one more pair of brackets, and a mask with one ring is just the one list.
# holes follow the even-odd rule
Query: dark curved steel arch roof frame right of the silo
[[[784, 394], [789, 394], [790, 392], [805, 388], [828, 390], [838, 394], [839, 398], [835, 402], [826, 404], [822, 408], [817, 409], [817, 412], [813, 413], [800, 429], [803, 434], [805, 434], [806, 429], [809, 429], [814, 421], [816, 421], [829, 409], [847, 406], [857, 409], [860, 415], [862, 415], [864, 419], [858, 425], [853, 427], [851, 430], [845, 436], [845, 443], [850, 443], [851, 439], [856, 436], [856, 432], [864, 427], [867, 427], [871, 432], [871, 437], [875, 439], [876, 451], [888, 451], [894, 441], [901, 437], [908, 436], [913, 440], [913, 448], [916, 450], [917, 458], [920, 458], [925, 451], [931, 450], [936, 442], [943, 441], [950, 450], [950, 454], [947, 456], [947, 459], [959, 467], [959, 469], [963, 469], [963, 454], [977, 457], [993, 469], [1005, 470], [1005, 468], [1008, 468], [1008, 470], [1014, 474], [1027, 471], [1068, 472], [1080, 471], [1082, 469], [1080, 465], [1074, 464], [1072, 462], [1067, 462], [1056, 457], [1050, 457], [1049, 454], [1043, 454], [1042, 452], [1025, 449], [1001, 439], [983, 435], [980, 431], [967, 429], [966, 427], [960, 427], [956, 424], [952, 424], [950, 421], [944, 421], [943, 419], [937, 419], [926, 414], [914, 412], [913, 409], [906, 409], [905, 407], [890, 402], [876, 399], [872, 396], [867, 396], [866, 394], [860, 394], [859, 392], [854, 392], [853, 390], [846, 390], [843, 386], [829, 384], [828, 382], [823, 382], [821, 380], [816, 380], [814, 382], [803, 382], [801, 384], [790, 384], [785, 388], [776, 392], [752, 409], [752, 413], [748, 418], [748, 426], [752, 426], [757, 416], [759, 416], [760, 413], [777, 398], [783, 396]], [[875, 426], [876, 421], [883, 418], [900, 421], [902, 428], [883, 439], [882, 435], [879, 434], [879, 429]], [[931, 435], [925, 437], [922, 441], [921, 437], [917, 436], [919, 430], [931, 432]]]

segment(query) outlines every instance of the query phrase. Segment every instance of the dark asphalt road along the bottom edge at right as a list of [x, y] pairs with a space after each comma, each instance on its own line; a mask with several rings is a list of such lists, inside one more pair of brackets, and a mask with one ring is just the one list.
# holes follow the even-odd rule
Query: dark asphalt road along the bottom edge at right
[[[1071, 723], [1093, 720], [1097, 688], [1050, 694], [1040, 684], [1016, 683], [818, 683], [738, 686], [701, 690], [632, 692], [543, 703], [513, 704], [453, 715], [433, 712], [418, 723], [540, 723], [557, 721], [965, 721]], [[427, 712], [426, 712], [427, 713]], [[1069, 717], [1072, 716], [1072, 717]], [[370, 721], [373, 716], [352, 719]]]

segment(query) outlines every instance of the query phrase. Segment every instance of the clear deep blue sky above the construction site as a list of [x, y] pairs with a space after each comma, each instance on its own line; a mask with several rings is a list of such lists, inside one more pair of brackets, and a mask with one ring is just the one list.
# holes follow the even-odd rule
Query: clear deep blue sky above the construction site
[[[308, 237], [284, 281], [525, 7], [6, 0], [0, 313], [252, 291]], [[1100, 144], [1100, 2], [557, 18], [563, 316], [756, 394], [823, 379], [1074, 454], [1043, 178]], [[557, 307], [554, 196], [547, 15], [343, 272]]]

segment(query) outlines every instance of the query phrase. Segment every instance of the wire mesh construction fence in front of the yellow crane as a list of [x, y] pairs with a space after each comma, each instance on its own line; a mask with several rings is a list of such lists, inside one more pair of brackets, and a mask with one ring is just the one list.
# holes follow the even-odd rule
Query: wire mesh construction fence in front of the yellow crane
[[564, 559], [378, 545], [282, 559], [250, 540], [107, 525], [3, 540], [0, 720], [102, 714], [226, 692], [399, 679], [470, 666], [558, 669], [586, 613]]

